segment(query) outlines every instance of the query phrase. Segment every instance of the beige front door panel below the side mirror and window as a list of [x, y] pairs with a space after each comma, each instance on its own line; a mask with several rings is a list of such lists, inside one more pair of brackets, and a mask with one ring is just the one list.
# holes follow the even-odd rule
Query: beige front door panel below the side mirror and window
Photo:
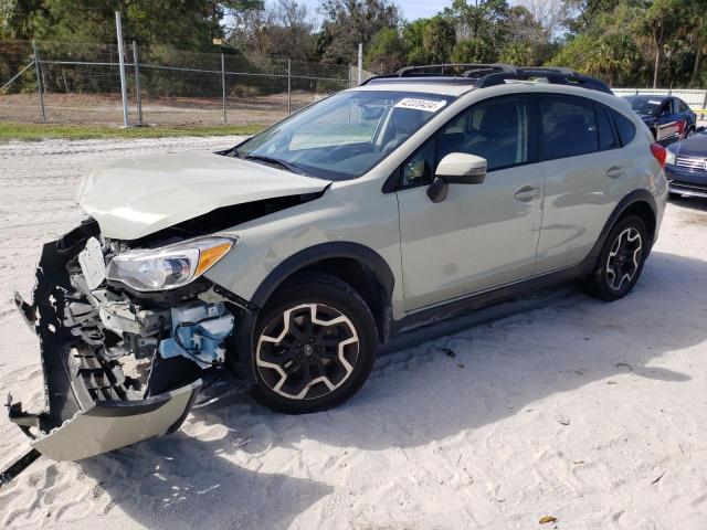
[[[405, 310], [530, 276], [542, 221], [540, 165], [489, 171], [481, 184], [451, 184], [433, 203], [428, 187], [398, 192]], [[538, 190], [518, 200], [521, 189]]]

